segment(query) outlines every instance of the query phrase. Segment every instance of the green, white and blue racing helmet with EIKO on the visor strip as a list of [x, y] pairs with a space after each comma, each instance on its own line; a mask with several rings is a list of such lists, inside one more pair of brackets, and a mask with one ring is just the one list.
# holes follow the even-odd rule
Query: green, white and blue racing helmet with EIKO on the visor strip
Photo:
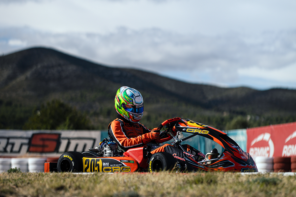
[[143, 97], [133, 88], [123, 86], [116, 92], [114, 105], [116, 111], [126, 120], [137, 123], [144, 112]]

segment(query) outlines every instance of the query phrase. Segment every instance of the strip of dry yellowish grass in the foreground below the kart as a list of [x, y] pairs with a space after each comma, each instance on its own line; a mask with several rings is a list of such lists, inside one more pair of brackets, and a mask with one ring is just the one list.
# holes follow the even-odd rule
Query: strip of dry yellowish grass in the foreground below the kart
[[1, 173], [3, 196], [296, 196], [296, 177], [238, 173]]

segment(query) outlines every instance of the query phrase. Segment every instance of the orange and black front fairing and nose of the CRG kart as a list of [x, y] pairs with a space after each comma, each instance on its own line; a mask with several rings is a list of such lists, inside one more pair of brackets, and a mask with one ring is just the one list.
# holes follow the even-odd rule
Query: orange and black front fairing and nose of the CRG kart
[[239, 145], [223, 131], [189, 119], [178, 120], [174, 128], [177, 131], [192, 133], [191, 136], [179, 140], [179, 143], [195, 135], [199, 135], [217, 142], [225, 149], [217, 159], [197, 162], [191, 157], [185, 157], [187, 170], [258, 172], [251, 155], [244, 152]]

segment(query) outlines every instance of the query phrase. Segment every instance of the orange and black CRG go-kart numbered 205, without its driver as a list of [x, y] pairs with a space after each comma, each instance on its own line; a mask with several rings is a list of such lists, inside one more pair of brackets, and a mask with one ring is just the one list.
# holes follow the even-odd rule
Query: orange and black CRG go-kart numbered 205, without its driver
[[[45, 163], [45, 172], [155, 172], [176, 170], [190, 171], [230, 171], [258, 172], [256, 164], [249, 153], [244, 152], [239, 145], [226, 133], [213, 127], [191, 121], [186, 118], [172, 118], [159, 126], [160, 136], [170, 135], [170, 144], [184, 151], [187, 157], [175, 158], [167, 152], [151, 154], [149, 144], [145, 147], [132, 148], [123, 152], [112, 140], [104, 139], [99, 149], [90, 148], [87, 152], [65, 152], [58, 162]], [[176, 136], [173, 132], [177, 132]], [[181, 139], [183, 133], [189, 136]], [[203, 161], [195, 161], [181, 146], [181, 143], [194, 137], [203, 136], [220, 144], [225, 150], [219, 153], [207, 153]], [[219, 156], [218, 156], [219, 155]], [[180, 161], [179, 161], [180, 160]]]

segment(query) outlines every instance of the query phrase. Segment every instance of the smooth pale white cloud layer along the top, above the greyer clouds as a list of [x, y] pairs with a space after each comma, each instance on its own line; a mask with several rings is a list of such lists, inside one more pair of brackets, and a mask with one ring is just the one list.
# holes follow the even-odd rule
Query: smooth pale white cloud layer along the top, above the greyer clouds
[[258, 33], [296, 28], [296, 1], [5, 0], [0, 25], [106, 34], [124, 26], [181, 34]]

